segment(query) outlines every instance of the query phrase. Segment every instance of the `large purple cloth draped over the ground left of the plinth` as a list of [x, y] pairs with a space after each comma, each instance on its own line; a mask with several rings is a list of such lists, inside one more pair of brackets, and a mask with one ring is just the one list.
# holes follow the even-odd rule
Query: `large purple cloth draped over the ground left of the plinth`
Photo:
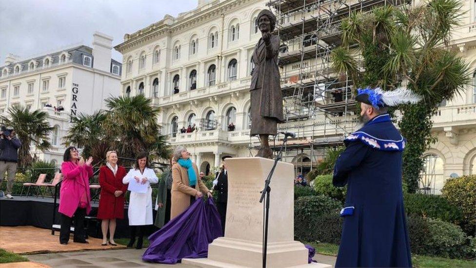
[[175, 264], [183, 258], [206, 258], [208, 244], [223, 236], [220, 215], [212, 198], [195, 201], [179, 216], [149, 236], [142, 255], [146, 262]]

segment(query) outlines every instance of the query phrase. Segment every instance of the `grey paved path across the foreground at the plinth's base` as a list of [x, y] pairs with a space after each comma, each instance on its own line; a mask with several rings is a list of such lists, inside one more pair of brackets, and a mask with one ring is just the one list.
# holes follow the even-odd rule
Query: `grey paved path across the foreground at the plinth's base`
[[[64, 252], [27, 255], [33, 262], [46, 264], [51, 267], [187, 267], [183, 264], [174, 266], [165, 264], [146, 263], [141, 261], [145, 249], [115, 249], [82, 252]], [[336, 257], [317, 255], [320, 263], [333, 265]]]

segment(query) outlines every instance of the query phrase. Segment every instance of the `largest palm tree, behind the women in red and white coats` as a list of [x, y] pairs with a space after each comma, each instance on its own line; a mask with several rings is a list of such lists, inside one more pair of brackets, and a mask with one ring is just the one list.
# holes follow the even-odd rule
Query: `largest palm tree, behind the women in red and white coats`
[[168, 158], [170, 150], [167, 138], [160, 134], [157, 123], [159, 108], [143, 95], [134, 97], [109, 97], [109, 110], [104, 129], [119, 155], [134, 158], [140, 151], [148, 152], [153, 158]]

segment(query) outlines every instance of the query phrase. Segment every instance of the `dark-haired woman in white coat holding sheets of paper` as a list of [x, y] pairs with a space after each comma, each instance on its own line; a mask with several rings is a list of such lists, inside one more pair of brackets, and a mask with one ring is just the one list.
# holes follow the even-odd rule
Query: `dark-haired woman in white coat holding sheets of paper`
[[[136, 242], [136, 233], [138, 233], [139, 239], [137, 240], [136, 248], [142, 248], [142, 239], [145, 233], [145, 226], [152, 225], [152, 188], [150, 184], [156, 184], [159, 179], [152, 168], [149, 168], [149, 157], [145, 152], [141, 152], [136, 157], [136, 165], [129, 170], [129, 173], [122, 179], [124, 184], [139, 184], [142, 187], [146, 187], [145, 192], [137, 189], [138, 187], [132, 187], [129, 185], [128, 189], [131, 190], [129, 196], [129, 228], [131, 231], [131, 240], [127, 247], [134, 247]], [[135, 182], [133, 182], [133, 180]], [[139, 187], [140, 188], [140, 187]], [[137, 231], [138, 230], [138, 231]]]

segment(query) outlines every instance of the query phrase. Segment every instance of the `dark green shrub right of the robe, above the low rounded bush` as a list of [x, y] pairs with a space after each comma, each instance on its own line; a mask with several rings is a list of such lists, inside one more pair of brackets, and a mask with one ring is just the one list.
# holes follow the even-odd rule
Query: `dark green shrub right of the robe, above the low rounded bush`
[[436, 218], [457, 225], [463, 219], [461, 210], [439, 195], [406, 193], [403, 200], [405, 211], [410, 216]]

